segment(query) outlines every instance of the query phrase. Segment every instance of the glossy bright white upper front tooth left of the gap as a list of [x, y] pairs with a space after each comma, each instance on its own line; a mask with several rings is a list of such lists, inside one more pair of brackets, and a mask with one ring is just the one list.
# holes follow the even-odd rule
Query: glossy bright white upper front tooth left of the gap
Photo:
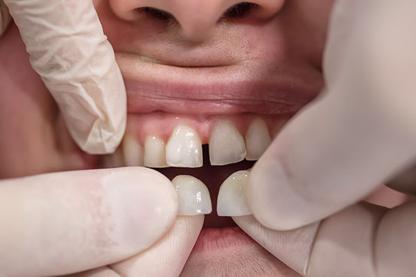
[[202, 166], [202, 143], [196, 132], [188, 126], [177, 126], [166, 144], [168, 166], [198, 168]]

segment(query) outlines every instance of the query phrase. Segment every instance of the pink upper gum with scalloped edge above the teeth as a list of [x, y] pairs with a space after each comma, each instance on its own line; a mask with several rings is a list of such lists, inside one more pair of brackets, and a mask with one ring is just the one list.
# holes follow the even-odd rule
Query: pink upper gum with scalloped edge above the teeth
[[218, 120], [231, 120], [242, 136], [252, 123], [254, 118], [261, 117], [268, 126], [270, 135], [275, 128], [279, 128], [282, 122], [288, 120], [289, 116], [263, 116], [258, 114], [235, 114], [227, 116], [189, 116], [184, 114], [168, 114], [162, 111], [155, 111], [148, 114], [129, 114], [127, 131], [137, 138], [141, 145], [144, 145], [146, 136], [158, 136], [165, 143], [177, 125], [187, 125], [196, 130], [202, 144], [209, 143], [211, 129]]

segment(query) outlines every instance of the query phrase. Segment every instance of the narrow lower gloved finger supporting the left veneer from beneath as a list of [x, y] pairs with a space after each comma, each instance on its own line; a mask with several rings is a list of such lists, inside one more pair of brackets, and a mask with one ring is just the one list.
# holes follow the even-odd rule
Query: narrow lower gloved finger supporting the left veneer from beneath
[[203, 215], [179, 216], [171, 230], [150, 249], [110, 268], [123, 277], [180, 276], [203, 223]]

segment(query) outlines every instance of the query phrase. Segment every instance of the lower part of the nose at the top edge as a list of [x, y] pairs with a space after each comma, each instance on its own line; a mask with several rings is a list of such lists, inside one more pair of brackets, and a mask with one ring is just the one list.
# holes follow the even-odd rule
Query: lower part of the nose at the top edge
[[[141, 8], [161, 10], [175, 18], [182, 36], [191, 41], [204, 39], [211, 33], [224, 13], [241, 3], [255, 4], [254, 17], [265, 20], [279, 12], [285, 0], [110, 0], [113, 12], [126, 21], [141, 17]], [[251, 12], [251, 11], [250, 11]], [[254, 13], [254, 12], [253, 12]]]

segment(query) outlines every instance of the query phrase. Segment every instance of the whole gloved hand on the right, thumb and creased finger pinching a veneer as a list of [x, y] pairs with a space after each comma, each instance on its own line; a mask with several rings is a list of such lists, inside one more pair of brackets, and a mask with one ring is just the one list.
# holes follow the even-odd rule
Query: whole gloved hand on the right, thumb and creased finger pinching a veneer
[[413, 0], [338, 1], [326, 88], [250, 172], [255, 218], [234, 220], [305, 276], [415, 274], [415, 202], [356, 204], [416, 158], [415, 26]]

